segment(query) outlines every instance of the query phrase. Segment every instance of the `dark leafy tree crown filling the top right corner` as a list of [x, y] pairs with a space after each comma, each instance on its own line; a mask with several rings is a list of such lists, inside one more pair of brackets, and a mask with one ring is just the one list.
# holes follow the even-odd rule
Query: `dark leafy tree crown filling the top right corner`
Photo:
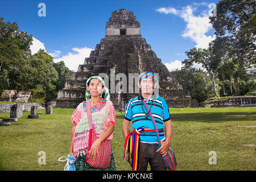
[[248, 67], [255, 64], [256, 1], [221, 0], [217, 3], [217, 16], [209, 17], [216, 30], [214, 34], [229, 46], [229, 57], [236, 57]]

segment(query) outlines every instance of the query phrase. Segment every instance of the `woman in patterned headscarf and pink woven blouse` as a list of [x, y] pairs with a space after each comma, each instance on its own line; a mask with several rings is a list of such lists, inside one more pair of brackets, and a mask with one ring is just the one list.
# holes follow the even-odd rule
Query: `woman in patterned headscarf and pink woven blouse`
[[[103, 93], [105, 91], [105, 93]], [[104, 80], [98, 76], [92, 76], [86, 81], [86, 101], [81, 102], [73, 112], [71, 121], [73, 123], [71, 147], [69, 154], [75, 156], [75, 167], [77, 171], [93, 170], [115, 170], [113, 151], [111, 152], [111, 164], [106, 169], [96, 169], [86, 164], [86, 155], [94, 159], [100, 148], [101, 142], [113, 138], [115, 125], [115, 110], [110, 99], [110, 94], [105, 88]], [[90, 99], [90, 100], [89, 100]], [[89, 123], [87, 119], [86, 102], [90, 101], [92, 112], [93, 129], [96, 130], [98, 139], [92, 144], [88, 151]]]

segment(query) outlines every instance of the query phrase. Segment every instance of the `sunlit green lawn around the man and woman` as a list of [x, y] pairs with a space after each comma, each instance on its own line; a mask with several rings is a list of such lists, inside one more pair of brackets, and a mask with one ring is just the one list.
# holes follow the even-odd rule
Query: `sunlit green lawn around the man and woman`
[[[39, 119], [27, 119], [30, 112], [10, 126], [0, 127], [0, 170], [63, 170], [71, 139], [71, 115], [75, 109], [53, 108], [53, 114], [37, 110]], [[173, 137], [171, 146], [177, 170], [256, 170], [256, 107], [170, 108]], [[9, 118], [10, 113], [1, 113]], [[117, 170], [130, 170], [123, 160], [123, 113], [116, 111], [112, 148]], [[39, 151], [46, 152], [46, 165], [40, 165]], [[217, 154], [210, 165], [209, 152]]]

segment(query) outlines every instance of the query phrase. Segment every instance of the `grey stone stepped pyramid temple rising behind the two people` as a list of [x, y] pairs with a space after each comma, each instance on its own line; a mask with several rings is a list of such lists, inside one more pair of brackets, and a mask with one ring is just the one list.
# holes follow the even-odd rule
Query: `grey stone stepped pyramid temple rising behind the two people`
[[[85, 101], [86, 80], [90, 76], [100, 75], [110, 90], [110, 99], [115, 108], [122, 111], [130, 98], [138, 96], [138, 93], [135, 93], [138, 81], [129, 80], [129, 75], [139, 75], [146, 71], [158, 74], [159, 96], [166, 99], [168, 106], [197, 105], [196, 100], [191, 99], [189, 91], [182, 88], [151, 50], [146, 39], [142, 38], [141, 24], [136, 16], [126, 9], [113, 11], [109, 22], [106, 23], [105, 38], [90, 52], [84, 63], [79, 65], [77, 72], [72, 73], [65, 83], [65, 88], [59, 90], [57, 99], [53, 100], [53, 106], [75, 108]], [[123, 75], [126, 78], [121, 78]], [[119, 88], [126, 92], [116, 92], [115, 87], [123, 79], [127, 79], [127, 83]], [[129, 92], [131, 81], [133, 92]]]

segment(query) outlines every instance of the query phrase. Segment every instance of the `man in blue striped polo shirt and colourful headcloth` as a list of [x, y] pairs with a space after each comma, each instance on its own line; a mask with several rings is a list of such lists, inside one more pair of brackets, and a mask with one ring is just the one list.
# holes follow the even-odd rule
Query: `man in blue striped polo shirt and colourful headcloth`
[[[138, 84], [142, 95], [131, 98], [125, 108], [122, 131], [123, 136], [126, 138], [126, 143], [133, 141], [133, 144], [129, 144], [132, 148], [129, 149], [133, 151], [127, 150], [124, 159], [128, 160], [130, 158], [128, 161], [131, 163], [133, 170], [146, 171], [148, 163], [150, 163], [151, 170], [165, 171], [166, 167], [162, 155], [167, 154], [172, 138], [172, 123], [168, 105], [163, 97], [154, 94], [158, 84], [154, 73], [143, 72], [139, 76]], [[161, 140], [160, 148], [158, 148], [158, 139], [150, 119], [150, 113], [142, 99], [146, 102], [155, 119]], [[130, 121], [133, 122], [132, 133], [130, 133]], [[163, 129], [165, 129], [165, 134]], [[130, 137], [133, 134], [134, 137]], [[139, 136], [139, 142], [136, 142], [137, 139], [135, 137], [137, 136]], [[135, 146], [137, 143], [138, 147]], [[127, 152], [129, 155], [127, 155]], [[134, 158], [131, 159], [131, 156]]]

